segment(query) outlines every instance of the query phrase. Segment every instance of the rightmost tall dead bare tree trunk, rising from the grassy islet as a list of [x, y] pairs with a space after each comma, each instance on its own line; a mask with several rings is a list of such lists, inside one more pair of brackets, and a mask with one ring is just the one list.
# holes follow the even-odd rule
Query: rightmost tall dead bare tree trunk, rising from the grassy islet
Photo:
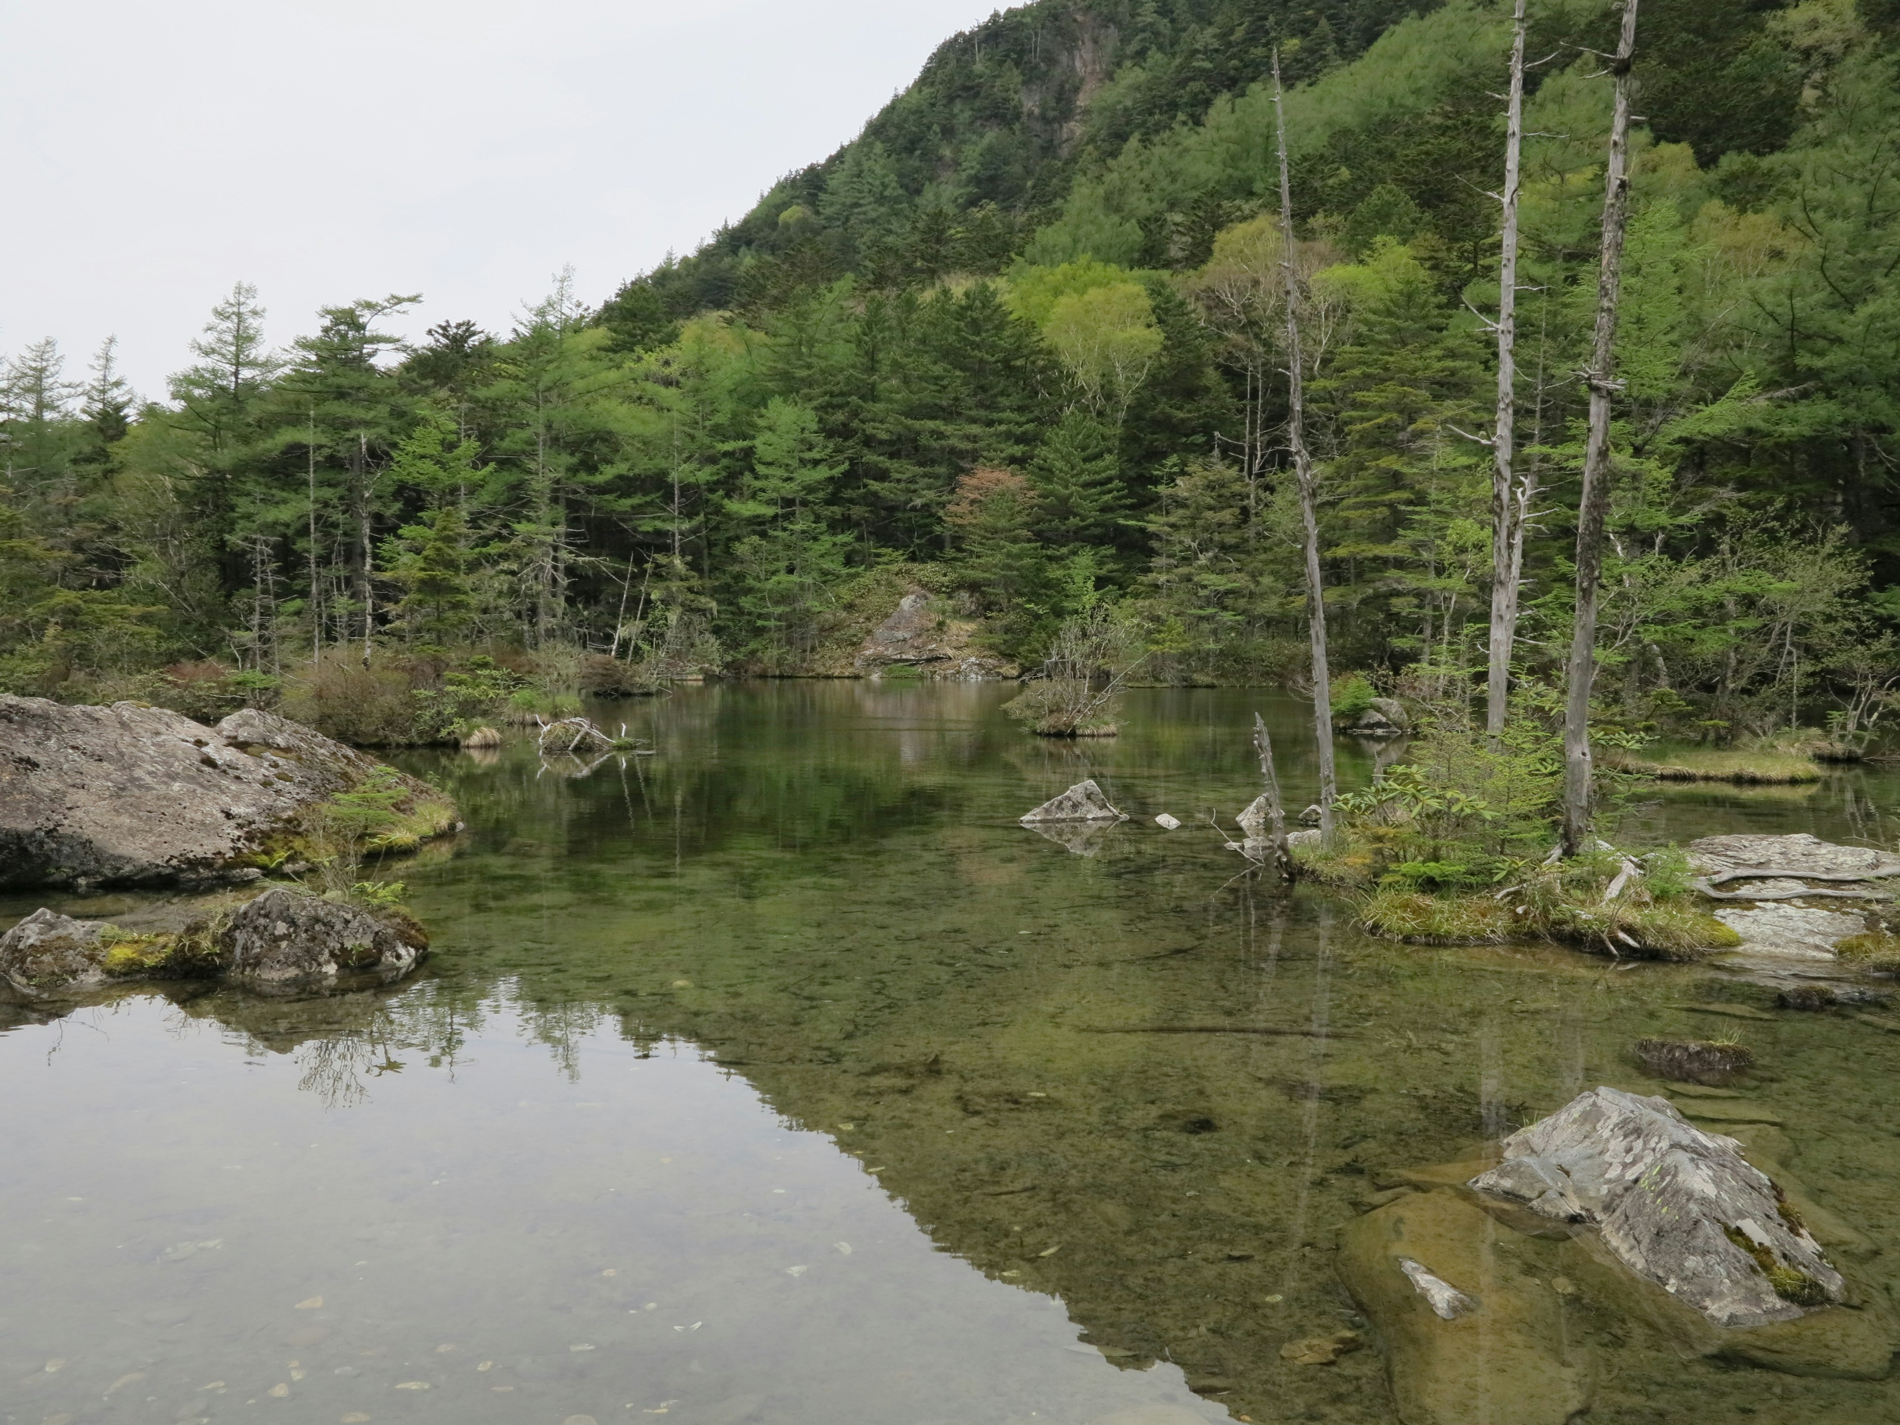
[[1617, 294], [1623, 283], [1623, 230], [1630, 215], [1630, 63], [1636, 57], [1636, 0], [1623, 0], [1623, 36], [1611, 74], [1617, 101], [1609, 118], [1609, 163], [1604, 175], [1604, 255], [1596, 277], [1596, 340], [1590, 369], [1590, 435], [1583, 454], [1583, 498], [1577, 505], [1577, 618], [1569, 636], [1569, 686], [1564, 703], [1564, 855], [1590, 844], [1590, 688], [1596, 682], [1596, 591], [1604, 576], [1604, 522], [1609, 515], [1609, 401], [1615, 380]]

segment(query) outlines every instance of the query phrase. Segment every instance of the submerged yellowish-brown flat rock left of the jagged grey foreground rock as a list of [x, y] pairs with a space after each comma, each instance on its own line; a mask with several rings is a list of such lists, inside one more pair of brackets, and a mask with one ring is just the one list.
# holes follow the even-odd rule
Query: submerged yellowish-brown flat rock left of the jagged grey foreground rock
[[[1431, 1191], [1353, 1220], [1340, 1246], [1340, 1277], [1378, 1328], [1406, 1425], [1566, 1425], [1588, 1408], [1588, 1336], [1566, 1330], [1548, 1243]], [[1438, 1288], [1450, 1296], [1434, 1302]]]

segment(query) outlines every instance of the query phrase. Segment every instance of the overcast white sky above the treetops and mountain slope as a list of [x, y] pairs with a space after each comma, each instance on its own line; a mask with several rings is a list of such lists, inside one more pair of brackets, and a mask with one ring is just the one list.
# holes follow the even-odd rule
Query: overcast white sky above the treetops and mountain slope
[[274, 342], [422, 293], [598, 302], [851, 139], [996, 0], [0, 0], [0, 353], [118, 332], [163, 395], [253, 281]]

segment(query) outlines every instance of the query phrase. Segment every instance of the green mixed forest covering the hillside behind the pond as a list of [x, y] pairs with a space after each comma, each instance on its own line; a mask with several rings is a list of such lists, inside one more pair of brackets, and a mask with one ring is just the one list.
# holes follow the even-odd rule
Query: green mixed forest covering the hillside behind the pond
[[[1571, 636], [1617, 21], [1530, 4], [1530, 682]], [[1510, 49], [1474, 0], [1036, 0], [598, 308], [559, 277], [405, 344], [418, 296], [340, 293], [277, 348], [239, 281], [150, 401], [110, 342], [21, 346], [0, 692], [439, 741], [519, 690], [849, 673], [908, 589], [998, 669], [1081, 619], [1142, 680], [1303, 684], [1294, 300], [1334, 678], [1478, 695]], [[1644, 0], [1596, 642], [1632, 726], [1858, 735], [1900, 688], [1896, 70], [1894, 0]]]

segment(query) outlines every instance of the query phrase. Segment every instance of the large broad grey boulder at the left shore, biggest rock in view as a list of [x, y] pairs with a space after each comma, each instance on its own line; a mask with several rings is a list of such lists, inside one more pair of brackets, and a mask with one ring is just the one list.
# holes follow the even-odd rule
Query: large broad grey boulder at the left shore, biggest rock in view
[[456, 825], [435, 788], [272, 712], [207, 728], [139, 703], [0, 697], [0, 887], [241, 880], [367, 783], [395, 792], [391, 844]]

